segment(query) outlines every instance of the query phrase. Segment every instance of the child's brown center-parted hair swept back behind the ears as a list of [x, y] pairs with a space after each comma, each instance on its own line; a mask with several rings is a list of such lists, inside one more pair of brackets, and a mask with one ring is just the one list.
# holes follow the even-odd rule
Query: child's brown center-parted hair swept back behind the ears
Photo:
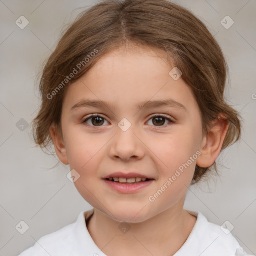
[[[181, 78], [200, 108], [204, 134], [211, 121], [224, 114], [229, 127], [221, 150], [239, 139], [240, 115], [223, 97], [228, 67], [206, 26], [189, 10], [167, 0], [104, 0], [77, 16], [44, 65], [39, 84], [42, 103], [32, 122], [36, 144], [41, 148], [52, 145], [51, 123], [62, 134], [65, 84], [79, 79], [105, 53], [126, 45], [160, 49], [170, 66], [182, 71]], [[74, 70], [77, 73], [69, 81], [66, 76]], [[216, 162], [210, 167], [217, 172]], [[212, 171], [210, 167], [196, 165], [192, 184]]]

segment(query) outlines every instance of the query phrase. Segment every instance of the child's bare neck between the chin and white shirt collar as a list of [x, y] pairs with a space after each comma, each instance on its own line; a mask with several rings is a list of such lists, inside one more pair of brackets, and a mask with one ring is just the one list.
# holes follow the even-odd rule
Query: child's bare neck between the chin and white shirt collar
[[173, 255], [185, 243], [196, 217], [183, 208], [169, 208], [139, 223], [123, 223], [94, 209], [87, 229], [106, 255]]

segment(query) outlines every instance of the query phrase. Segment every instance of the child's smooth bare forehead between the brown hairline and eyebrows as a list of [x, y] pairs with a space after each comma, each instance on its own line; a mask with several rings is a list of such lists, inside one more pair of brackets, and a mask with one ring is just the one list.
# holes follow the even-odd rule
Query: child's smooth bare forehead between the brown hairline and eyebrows
[[144, 101], [173, 99], [188, 109], [196, 107], [186, 83], [170, 76], [173, 68], [160, 50], [117, 49], [102, 56], [85, 75], [68, 85], [64, 104], [70, 109], [89, 98], [107, 101], [117, 108], [132, 108]]

